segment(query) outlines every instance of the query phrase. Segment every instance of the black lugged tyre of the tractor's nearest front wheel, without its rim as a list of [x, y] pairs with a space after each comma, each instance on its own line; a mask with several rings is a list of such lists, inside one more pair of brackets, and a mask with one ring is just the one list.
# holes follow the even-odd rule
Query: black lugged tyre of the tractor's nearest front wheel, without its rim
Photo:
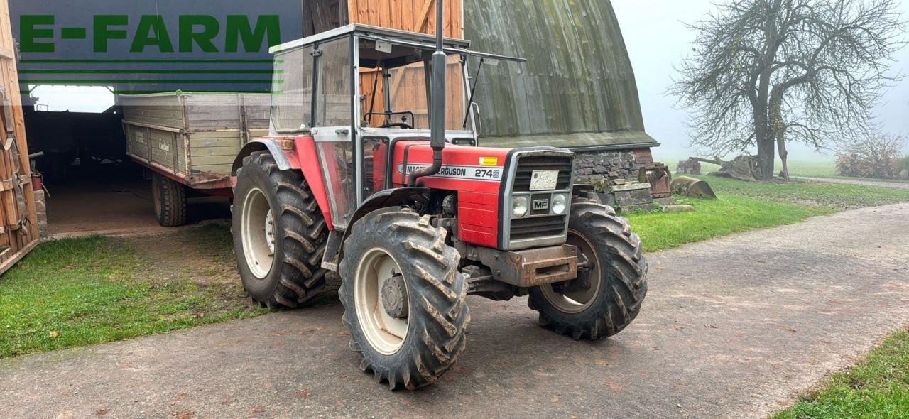
[[[389, 389], [416, 390], [435, 384], [466, 345], [470, 323], [467, 282], [458, 271], [461, 255], [445, 244], [447, 231], [430, 225], [428, 215], [385, 208], [357, 221], [345, 242], [338, 294], [345, 306], [344, 324], [351, 349], [362, 355], [360, 368]], [[405, 276], [409, 296], [408, 332], [397, 353], [380, 354], [360, 328], [355, 304], [356, 266], [366, 251], [385, 249]]]

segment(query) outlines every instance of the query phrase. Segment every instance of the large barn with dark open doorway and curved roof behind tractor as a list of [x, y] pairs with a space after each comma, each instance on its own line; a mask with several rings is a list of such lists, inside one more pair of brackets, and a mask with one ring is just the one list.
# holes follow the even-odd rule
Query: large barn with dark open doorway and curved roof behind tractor
[[[128, 97], [267, 95], [273, 88], [268, 46], [349, 23], [431, 33], [435, 1], [274, 0], [261, 7], [240, 0], [10, 0], [28, 147], [44, 153], [35, 165], [51, 193], [45, 196], [47, 229], [66, 234], [154, 226], [149, 168], [172, 170], [170, 177], [182, 179], [176, 153], [182, 143], [167, 137], [176, 147], [168, 155], [173, 165], [152, 165], [151, 156], [143, 161], [131, 152], [136, 125], [124, 108]], [[634, 71], [609, 1], [444, 1], [446, 36], [465, 38], [477, 50], [527, 58], [526, 64], [469, 63], [484, 145], [571, 148], [580, 156], [579, 178], [649, 182], [649, 195], [668, 194], [665, 168], [650, 152], [659, 144], [644, 130]], [[375, 76], [362, 75], [364, 91]], [[46, 86], [100, 86], [113, 100], [102, 112], [58, 111], [41, 95]], [[212, 162], [206, 170], [221, 170], [222, 160], [255, 135], [247, 128], [235, 127], [235, 139], [219, 143], [218, 155], [191, 155], [195, 143], [187, 140], [179, 153], [186, 157], [184, 170], [191, 172], [191, 157]], [[204, 175], [210, 174], [184, 174]], [[195, 214], [204, 214], [199, 217], [225, 216], [225, 198], [189, 196]]]

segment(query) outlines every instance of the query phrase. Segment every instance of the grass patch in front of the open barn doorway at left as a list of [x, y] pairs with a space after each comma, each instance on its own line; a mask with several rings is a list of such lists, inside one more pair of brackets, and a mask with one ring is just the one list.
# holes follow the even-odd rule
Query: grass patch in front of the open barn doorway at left
[[[217, 241], [221, 234], [195, 233], [203, 241]], [[155, 272], [154, 264], [110, 238], [41, 244], [0, 277], [0, 357], [263, 313], [251, 304], [238, 304], [242, 290], [203, 286], [179, 275], [146, 277]]]

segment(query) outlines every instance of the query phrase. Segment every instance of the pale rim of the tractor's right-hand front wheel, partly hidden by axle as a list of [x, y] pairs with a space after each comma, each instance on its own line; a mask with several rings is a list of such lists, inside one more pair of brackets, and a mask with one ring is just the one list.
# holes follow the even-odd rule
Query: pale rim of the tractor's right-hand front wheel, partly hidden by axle
[[[577, 247], [580, 262], [588, 262], [591, 264], [590, 270], [586, 271], [588, 281], [590, 281], [590, 287], [582, 290], [559, 293], [554, 290], [552, 284], [544, 284], [540, 286], [540, 291], [543, 292], [546, 301], [548, 301], [549, 304], [553, 304], [559, 311], [568, 314], [577, 314], [590, 308], [596, 300], [596, 295], [600, 292], [600, 284], [602, 282], [600, 280], [600, 266], [597, 264], [596, 248], [594, 247], [594, 244], [590, 243], [583, 235], [569, 229], [568, 239], [565, 241], [565, 244], [571, 244]], [[581, 275], [581, 271], [578, 272], [578, 275]]]

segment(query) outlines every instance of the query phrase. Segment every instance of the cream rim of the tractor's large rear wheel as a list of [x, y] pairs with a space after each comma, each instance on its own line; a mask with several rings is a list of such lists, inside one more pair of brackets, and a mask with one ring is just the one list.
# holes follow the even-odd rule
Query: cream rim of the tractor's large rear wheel
[[256, 278], [263, 279], [271, 272], [275, 259], [275, 219], [261, 189], [246, 194], [240, 217], [246, 266]]

